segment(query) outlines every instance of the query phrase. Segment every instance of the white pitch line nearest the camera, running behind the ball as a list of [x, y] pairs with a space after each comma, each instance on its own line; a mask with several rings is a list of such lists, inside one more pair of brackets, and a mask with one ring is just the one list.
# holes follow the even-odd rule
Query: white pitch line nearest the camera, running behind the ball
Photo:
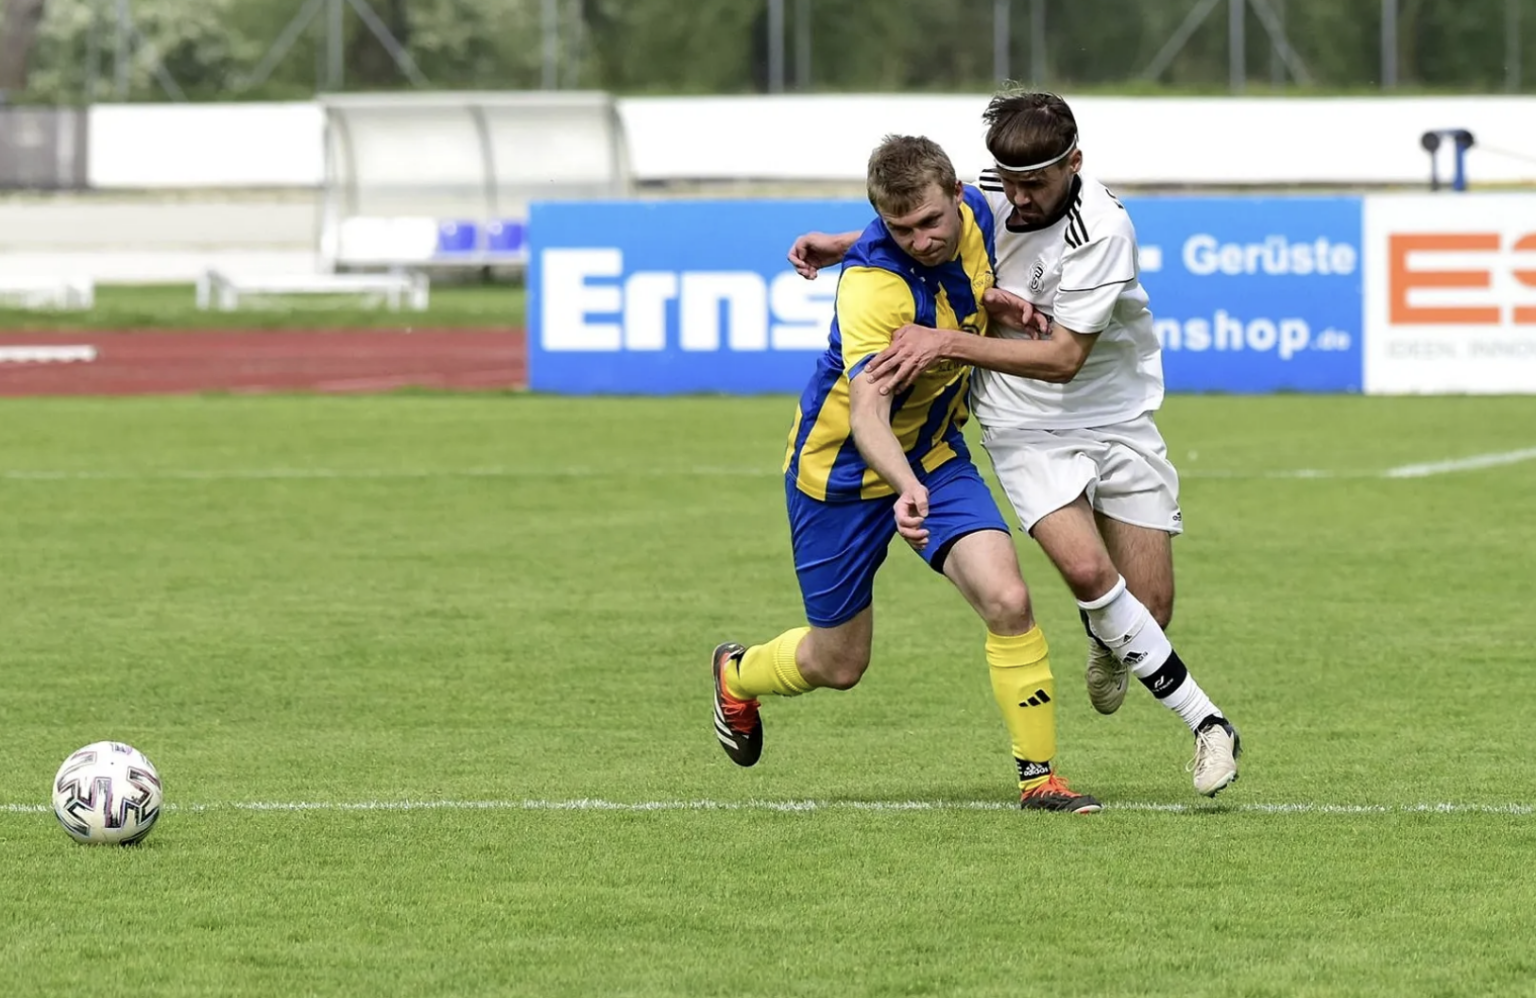
[[[1001, 800], [307, 800], [307, 801], [207, 801], [194, 805], [166, 805], [166, 811], [203, 814], [209, 811], [269, 811], [269, 812], [369, 812], [369, 811], [866, 811], [909, 814], [915, 811], [1014, 811], [1017, 805]], [[1226, 811], [1240, 814], [1342, 814], [1342, 815], [1402, 815], [1402, 814], [1502, 814], [1527, 817], [1536, 814], [1531, 805], [1476, 805], [1476, 803], [1418, 803], [1418, 805], [1309, 805], [1309, 803], [1224, 803], [1204, 805], [1155, 803], [1155, 801], [1109, 801], [1106, 811], [1157, 811], [1167, 814]], [[46, 814], [48, 805], [0, 805], [0, 814]]]

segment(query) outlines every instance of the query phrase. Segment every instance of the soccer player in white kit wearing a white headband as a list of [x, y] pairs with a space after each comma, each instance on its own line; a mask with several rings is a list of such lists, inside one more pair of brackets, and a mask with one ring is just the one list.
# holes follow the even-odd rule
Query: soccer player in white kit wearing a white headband
[[[1089, 634], [1087, 692], [1120, 709], [1137, 679], [1195, 734], [1195, 791], [1238, 777], [1236, 729], [1164, 633], [1174, 613], [1178, 474], [1152, 419], [1163, 359], [1124, 206], [1083, 177], [1077, 121], [1054, 94], [1001, 94], [983, 115], [994, 169], [980, 187], [997, 221], [998, 336], [902, 329], [868, 365], [900, 393], [942, 361], [977, 370], [972, 407], [1023, 528], [1077, 597]], [[800, 273], [842, 259], [849, 235], [811, 233]]]

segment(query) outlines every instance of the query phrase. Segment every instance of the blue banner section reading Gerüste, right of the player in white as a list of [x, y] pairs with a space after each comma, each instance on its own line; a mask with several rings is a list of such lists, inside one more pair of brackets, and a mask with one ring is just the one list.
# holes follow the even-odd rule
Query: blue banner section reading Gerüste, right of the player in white
[[1169, 392], [1359, 392], [1361, 198], [1126, 198]]

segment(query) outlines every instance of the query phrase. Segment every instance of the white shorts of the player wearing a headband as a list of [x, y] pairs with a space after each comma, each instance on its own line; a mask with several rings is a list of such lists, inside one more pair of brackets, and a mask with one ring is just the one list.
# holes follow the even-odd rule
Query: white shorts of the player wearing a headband
[[1178, 471], [1150, 413], [1091, 430], [983, 428], [982, 445], [1026, 531], [1084, 493], [1123, 524], [1184, 530]]

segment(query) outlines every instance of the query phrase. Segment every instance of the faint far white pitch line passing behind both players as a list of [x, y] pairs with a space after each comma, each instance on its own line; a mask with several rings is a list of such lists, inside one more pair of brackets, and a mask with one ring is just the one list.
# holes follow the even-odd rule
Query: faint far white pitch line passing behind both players
[[[1195, 468], [1180, 474], [1184, 479], [1266, 481], [1266, 479], [1404, 479], [1478, 471], [1501, 465], [1536, 461], [1536, 447], [1491, 454], [1473, 454], [1453, 461], [1405, 464], [1384, 471], [1329, 471], [1324, 468], [1292, 468], [1278, 471], [1217, 471]], [[593, 465], [565, 467], [504, 467], [472, 468], [207, 468], [163, 471], [0, 471], [3, 482], [220, 482], [220, 481], [392, 481], [392, 479], [561, 479], [561, 478], [779, 478], [776, 467], [691, 465], [685, 468], [599, 468]]]

